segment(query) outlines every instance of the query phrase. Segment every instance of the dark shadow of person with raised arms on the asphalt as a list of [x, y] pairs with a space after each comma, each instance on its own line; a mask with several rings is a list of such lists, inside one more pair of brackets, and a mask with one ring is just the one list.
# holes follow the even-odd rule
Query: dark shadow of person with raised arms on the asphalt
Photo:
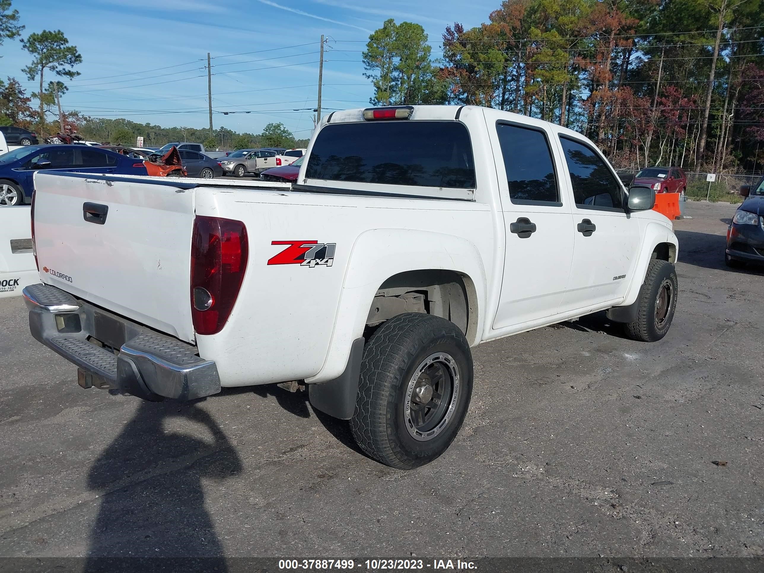
[[[94, 462], [88, 485], [101, 492], [101, 505], [83, 571], [166, 571], [179, 558], [184, 571], [228, 571], [202, 478], [225, 480], [242, 465], [198, 403], [142, 402]], [[168, 431], [173, 418], [201, 426], [212, 440]]]

